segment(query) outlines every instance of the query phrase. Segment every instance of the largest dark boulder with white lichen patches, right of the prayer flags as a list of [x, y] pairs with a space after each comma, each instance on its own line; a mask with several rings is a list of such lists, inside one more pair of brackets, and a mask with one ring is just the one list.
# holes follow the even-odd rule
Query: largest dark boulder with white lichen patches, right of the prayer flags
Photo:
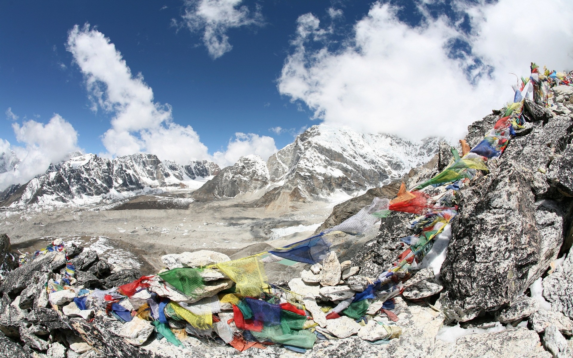
[[559, 253], [563, 219], [543, 207], [536, 211], [531, 172], [504, 159], [490, 160], [488, 168], [460, 190], [437, 302], [448, 321], [510, 304]]

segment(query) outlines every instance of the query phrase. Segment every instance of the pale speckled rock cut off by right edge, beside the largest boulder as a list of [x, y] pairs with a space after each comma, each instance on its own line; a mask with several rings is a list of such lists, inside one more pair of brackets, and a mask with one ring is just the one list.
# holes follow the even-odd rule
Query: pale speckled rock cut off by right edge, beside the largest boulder
[[573, 249], [570, 249], [562, 266], [543, 279], [543, 296], [551, 302], [552, 310], [573, 318]]

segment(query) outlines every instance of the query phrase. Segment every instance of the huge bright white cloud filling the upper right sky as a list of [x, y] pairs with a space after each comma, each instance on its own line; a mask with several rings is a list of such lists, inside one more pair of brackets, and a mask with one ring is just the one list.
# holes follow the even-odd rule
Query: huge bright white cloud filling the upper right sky
[[[528, 21], [535, 0], [457, 1], [472, 30], [425, 15], [419, 26], [398, 19], [398, 8], [375, 2], [354, 32], [331, 49], [329, 29], [315, 15], [301, 15], [278, 78], [281, 94], [307, 104], [313, 118], [335, 127], [420, 139], [459, 139], [468, 124], [512, 99], [514, 72], [530, 61], [570, 69], [573, 24]], [[331, 12], [331, 11], [329, 11]], [[573, 15], [573, 3], [543, 3], [543, 13]], [[469, 50], [460, 51], [460, 44]]]

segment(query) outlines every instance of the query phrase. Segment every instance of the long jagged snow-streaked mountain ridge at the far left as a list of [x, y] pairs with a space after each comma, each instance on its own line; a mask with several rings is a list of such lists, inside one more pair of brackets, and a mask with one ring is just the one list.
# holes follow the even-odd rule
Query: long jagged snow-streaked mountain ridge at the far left
[[45, 174], [22, 186], [7, 188], [0, 194], [0, 206], [84, 205], [158, 188], [185, 187], [189, 180], [215, 175], [218, 171], [217, 164], [206, 160], [179, 166], [174, 162], [162, 162], [152, 154], [116, 159], [86, 154], [53, 164]]

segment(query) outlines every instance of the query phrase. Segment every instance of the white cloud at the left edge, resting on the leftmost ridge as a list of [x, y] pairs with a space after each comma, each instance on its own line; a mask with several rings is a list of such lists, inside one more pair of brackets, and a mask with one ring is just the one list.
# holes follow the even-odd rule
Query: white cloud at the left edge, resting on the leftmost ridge
[[77, 132], [68, 121], [54, 114], [46, 124], [34, 120], [13, 123], [16, 140], [23, 146], [0, 139], [0, 190], [28, 182], [45, 172], [51, 163], [69, 159], [80, 151]]

